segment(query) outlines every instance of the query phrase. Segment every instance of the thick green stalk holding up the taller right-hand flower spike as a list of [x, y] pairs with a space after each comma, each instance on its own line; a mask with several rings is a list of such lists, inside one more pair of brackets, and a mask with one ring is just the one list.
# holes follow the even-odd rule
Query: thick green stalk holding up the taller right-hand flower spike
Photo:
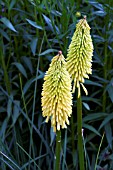
[[84, 167], [84, 150], [82, 140], [82, 101], [81, 92], [79, 98], [77, 98], [77, 132], [78, 132], [78, 155], [79, 155], [79, 167], [80, 170], [85, 170]]

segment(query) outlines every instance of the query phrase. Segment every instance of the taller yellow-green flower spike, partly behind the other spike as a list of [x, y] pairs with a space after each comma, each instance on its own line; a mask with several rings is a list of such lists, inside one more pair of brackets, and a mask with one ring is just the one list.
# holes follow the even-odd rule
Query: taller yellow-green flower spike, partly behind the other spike
[[93, 43], [90, 36], [90, 27], [86, 17], [84, 17], [76, 25], [76, 31], [72, 37], [66, 59], [67, 70], [74, 82], [73, 93], [75, 92], [75, 87], [77, 87], [78, 97], [80, 95], [80, 84], [86, 95], [88, 94], [83, 83], [84, 78], [89, 78], [88, 74], [92, 74], [92, 55]]

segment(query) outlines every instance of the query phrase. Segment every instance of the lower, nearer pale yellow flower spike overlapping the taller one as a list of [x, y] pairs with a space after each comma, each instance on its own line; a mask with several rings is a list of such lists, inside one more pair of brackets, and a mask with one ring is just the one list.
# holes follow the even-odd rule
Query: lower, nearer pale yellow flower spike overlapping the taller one
[[51, 117], [51, 126], [54, 132], [69, 125], [68, 117], [72, 113], [71, 80], [66, 70], [66, 62], [62, 52], [53, 57], [44, 77], [42, 89], [42, 115], [48, 122]]

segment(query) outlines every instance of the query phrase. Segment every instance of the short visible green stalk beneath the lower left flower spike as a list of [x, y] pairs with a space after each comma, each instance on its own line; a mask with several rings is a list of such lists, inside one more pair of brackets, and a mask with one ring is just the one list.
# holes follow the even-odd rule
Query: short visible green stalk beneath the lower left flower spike
[[61, 131], [56, 131], [56, 160], [55, 170], [60, 170], [60, 152], [61, 152]]

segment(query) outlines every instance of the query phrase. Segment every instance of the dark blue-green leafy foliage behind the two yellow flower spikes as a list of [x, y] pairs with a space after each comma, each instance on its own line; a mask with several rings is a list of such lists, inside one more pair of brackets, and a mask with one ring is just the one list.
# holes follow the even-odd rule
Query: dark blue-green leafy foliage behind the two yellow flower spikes
[[[94, 43], [93, 74], [85, 82], [89, 94], [82, 92], [85, 166], [93, 170], [97, 160], [97, 170], [112, 170], [112, 1], [0, 0], [1, 170], [53, 169], [55, 134], [41, 114], [43, 77], [58, 50], [66, 57], [84, 15]], [[73, 104], [75, 149], [68, 126], [62, 130], [62, 170], [78, 170], [75, 95]]]

